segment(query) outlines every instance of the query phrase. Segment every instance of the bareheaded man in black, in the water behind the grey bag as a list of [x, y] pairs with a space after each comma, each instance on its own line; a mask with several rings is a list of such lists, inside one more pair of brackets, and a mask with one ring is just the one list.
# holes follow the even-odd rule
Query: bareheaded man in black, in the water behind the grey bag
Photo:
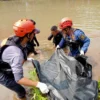
[[56, 47], [62, 39], [62, 33], [57, 29], [57, 26], [51, 27], [51, 35], [48, 37], [48, 40], [51, 40], [52, 38]]

